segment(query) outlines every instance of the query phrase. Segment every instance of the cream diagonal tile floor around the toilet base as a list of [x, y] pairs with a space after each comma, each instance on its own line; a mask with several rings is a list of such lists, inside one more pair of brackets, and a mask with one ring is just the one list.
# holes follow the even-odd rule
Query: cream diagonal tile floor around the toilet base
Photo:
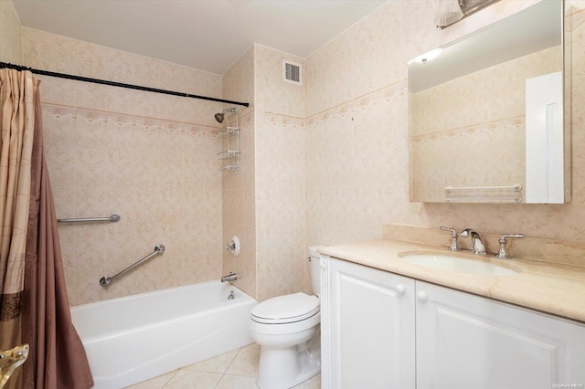
[[[128, 389], [257, 389], [260, 346], [250, 344], [128, 386]], [[321, 374], [295, 389], [321, 388]]]

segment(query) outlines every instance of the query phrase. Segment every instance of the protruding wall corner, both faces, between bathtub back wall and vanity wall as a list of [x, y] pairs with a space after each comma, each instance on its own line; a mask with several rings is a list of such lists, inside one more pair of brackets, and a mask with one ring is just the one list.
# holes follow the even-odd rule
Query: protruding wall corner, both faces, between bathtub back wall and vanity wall
[[254, 45], [224, 76], [226, 99], [241, 110], [241, 168], [223, 173], [223, 238], [238, 235], [239, 257], [224, 253], [224, 272], [258, 300], [308, 288], [304, 247], [303, 85], [282, 80], [295, 58]]

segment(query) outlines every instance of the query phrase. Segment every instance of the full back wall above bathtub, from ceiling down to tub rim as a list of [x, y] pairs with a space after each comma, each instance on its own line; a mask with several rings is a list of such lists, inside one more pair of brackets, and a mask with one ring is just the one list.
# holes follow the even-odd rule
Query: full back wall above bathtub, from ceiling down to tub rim
[[[23, 28], [27, 66], [221, 96], [221, 76]], [[222, 193], [218, 102], [41, 78], [46, 156], [72, 305], [219, 279]], [[112, 282], [99, 280], [165, 245]]]

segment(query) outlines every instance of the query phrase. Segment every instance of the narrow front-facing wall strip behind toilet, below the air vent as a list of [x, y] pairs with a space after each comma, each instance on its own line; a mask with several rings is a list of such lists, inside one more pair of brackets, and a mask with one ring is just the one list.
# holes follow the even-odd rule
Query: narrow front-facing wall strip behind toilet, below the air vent
[[303, 58], [255, 45], [256, 274], [258, 299], [306, 289], [304, 89], [283, 81], [283, 60]]

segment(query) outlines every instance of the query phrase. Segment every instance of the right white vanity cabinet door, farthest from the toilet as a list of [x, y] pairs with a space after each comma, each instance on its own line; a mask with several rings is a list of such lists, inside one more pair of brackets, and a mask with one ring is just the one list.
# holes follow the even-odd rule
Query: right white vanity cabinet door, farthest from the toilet
[[585, 327], [425, 282], [416, 290], [419, 389], [585, 384]]

